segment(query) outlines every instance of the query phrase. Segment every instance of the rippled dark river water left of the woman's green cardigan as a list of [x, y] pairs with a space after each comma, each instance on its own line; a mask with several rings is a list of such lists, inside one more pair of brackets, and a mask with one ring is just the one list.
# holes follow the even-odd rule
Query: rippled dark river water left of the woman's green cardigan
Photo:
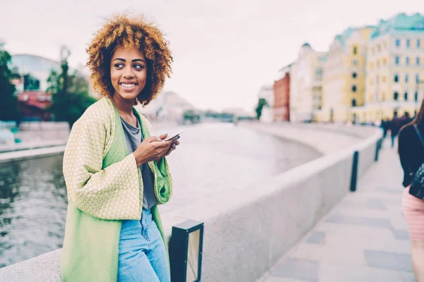
[[66, 219], [62, 157], [0, 166], [0, 266], [61, 247]]

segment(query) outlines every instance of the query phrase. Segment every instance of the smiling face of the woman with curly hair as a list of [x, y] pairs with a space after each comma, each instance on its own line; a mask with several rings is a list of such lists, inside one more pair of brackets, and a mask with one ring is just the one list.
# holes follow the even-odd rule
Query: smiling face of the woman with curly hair
[[110, 61], [110, 79], [114, 96], [134, 101], [146, 86], [147, 64], [144, 54], [136, 48], [118, 47]]

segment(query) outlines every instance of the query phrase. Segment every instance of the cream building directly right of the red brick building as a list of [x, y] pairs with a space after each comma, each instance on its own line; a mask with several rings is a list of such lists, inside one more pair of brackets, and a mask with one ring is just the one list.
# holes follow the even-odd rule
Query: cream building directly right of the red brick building
[[322, 55], [305, 43], [290, 68], [290, 121], [312, 121], [322, 106]]

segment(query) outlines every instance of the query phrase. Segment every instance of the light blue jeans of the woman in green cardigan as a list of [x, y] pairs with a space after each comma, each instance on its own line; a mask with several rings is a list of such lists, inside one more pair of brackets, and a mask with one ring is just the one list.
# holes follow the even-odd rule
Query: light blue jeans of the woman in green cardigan
[[122, 221], [118, 282], [133, 281], [171, 281], [165, 245], [150, 209], [143, 209], [139, 221]]

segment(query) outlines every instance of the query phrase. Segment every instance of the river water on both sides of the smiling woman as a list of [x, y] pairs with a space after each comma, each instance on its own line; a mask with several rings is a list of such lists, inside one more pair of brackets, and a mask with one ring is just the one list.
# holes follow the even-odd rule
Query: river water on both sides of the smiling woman
[[[263, 135], [232, 123], [161, 128], [185, 132], [167, 157], [174, 195], [160, 211], [172, 211], [199, 197], [261, 183], [320, 157], [314, 149]], [[0, 267], [62, 247], [66, 187], [62, 156], [0, 165]]]

